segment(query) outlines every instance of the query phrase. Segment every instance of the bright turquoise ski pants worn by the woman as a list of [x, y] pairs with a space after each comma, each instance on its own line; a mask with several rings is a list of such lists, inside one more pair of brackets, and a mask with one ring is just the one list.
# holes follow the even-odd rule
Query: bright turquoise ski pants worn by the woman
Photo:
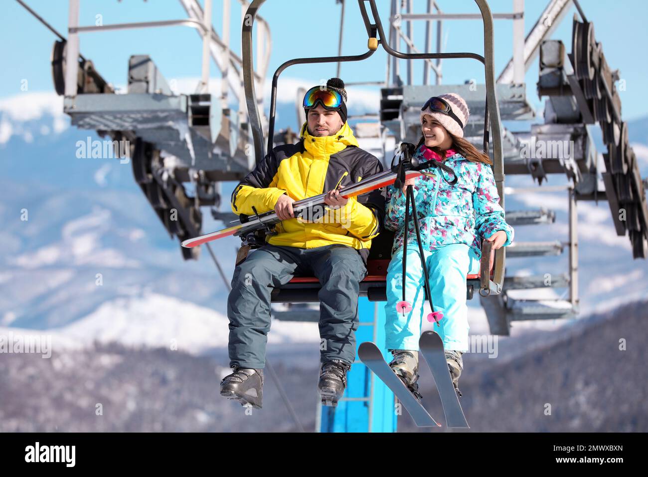
[[[430, 278], [432, 304], [443, 319], [434, 324], [434, 331], [443, 339], [446, 350], [468, 351], [468, 306], [466, 275], [478, 273], [480, 262], [474, 251], [463, 243], [443, 245], [434, 251], [423, 251]], [[387, 304], [385, 334], [387, 349], [419, 349], [424, 319], [425, 289], [421, 255], [416, 244], [408, 244], [405, 299], [410, 312], [399, 313], [396, 304], [402, 300], [403, 249], [391, 258], [387, 270]]]

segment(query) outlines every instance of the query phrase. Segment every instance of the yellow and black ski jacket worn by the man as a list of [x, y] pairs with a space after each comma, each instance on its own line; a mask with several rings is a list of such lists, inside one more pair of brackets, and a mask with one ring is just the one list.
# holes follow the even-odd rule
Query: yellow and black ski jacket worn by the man
[[[318, 138], [301, 128], [296, 144], [275, 147], [235, 188], [231, 197], [235, 214], [254, 215], [274, 210], [279, 196], [295, 201], [313, 197], [382, 172], [380, 161], [358, 147], [348, 123], [334, 136]], [[278, 223], [272, 245], [313, 249], [340, 243], [357, 249], [366, 263], [371, 239], [380, 232], [384, 218], [384, 190], [351, 197], [345, 206], [326, 214], [314, 212], [314, 222], [288, 219]], [[310, 219], [308, 219], [310, 220]]]

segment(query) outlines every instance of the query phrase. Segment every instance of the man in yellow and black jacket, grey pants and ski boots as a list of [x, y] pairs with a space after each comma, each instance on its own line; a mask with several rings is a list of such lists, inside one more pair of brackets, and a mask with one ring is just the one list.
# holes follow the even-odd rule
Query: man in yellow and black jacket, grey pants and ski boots
[[[358, 147], [347, 123], [347, 92], [339, 78], [304, 98], [307, 122], [297, 144], [275, 147], [232, 193], [232, 210], [254, 215], [274, 210], [281, 223], [266, 245], [238, 264], [227, 300], [233, 373], [220, 393], [261, 407], [270, 331], [270, 293], [295, 275], [316, 276], [319, 291], [321, 373], [325, 404], [336, 405], [355, 360], [359, 284], [367, 275], [371, 239], [380, 231], [384, 192], [343, 199], [338, 188], [382, 172], [380, 161]], [[327, 206], [295, 217], [292, 202], [327, 193]]]

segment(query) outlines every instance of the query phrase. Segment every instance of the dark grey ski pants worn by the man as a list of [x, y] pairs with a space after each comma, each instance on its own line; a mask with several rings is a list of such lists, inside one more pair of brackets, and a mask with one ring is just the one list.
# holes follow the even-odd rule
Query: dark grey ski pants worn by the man
[[234, 270], [227, 299], [230, 366], [264, 367], [270, 331], [270, 292], [295, 275], [316, 276], [321, 283], [321, 362], [353, 363], [359, 284], [367, 275], [358, 251], [341, 244], [316, 249], [266, 244], [250, 252]]

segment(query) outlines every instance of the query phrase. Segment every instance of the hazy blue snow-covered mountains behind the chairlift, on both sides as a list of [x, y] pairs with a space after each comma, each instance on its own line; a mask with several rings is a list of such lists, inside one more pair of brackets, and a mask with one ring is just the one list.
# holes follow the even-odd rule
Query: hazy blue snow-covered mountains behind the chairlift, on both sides
[[[295, 127], [294, 104], [279, 103], [279, 114]], [[648, 175], [648, 119], [631, 122], [629, 130]], [[116, 339], [166, 347], [178, 339], [198, 352], [223, 347], [227, 289], [209, 255], [182, 260], [177, 241], [135, 184], [130, 164], [76, 158], [76, 141], [87, 136], [97, 139], [93, 131], [69, 127], [53, 93], [0, 100], [0, 326], [52, 330], [75, 343]], [[550, 177], [548, 185], [563, 182]], [[507, 186], [532, 185], [527, 177], [507, 176]], [[231, 186], [225, 184], [225, 197]], [[518, 226], [516, 241], [566, 241], [566, 193], [538, 190], [506, 198], [507, 210], [540, 206], [555, 210], [557, 223]], [[616, 236], [607, 202], [579, 202], [578, 210], [582, 314], [645, 297], [647, 264], [632, 260], [629, 239]], [[204, 230], [220, 228], [203, 215]], [[214, 249], [226, 275], [236, 245], [226, 239]], [[518, 258], [507, 262], [507, 275], [562, 273], [567, 267], [566, 253]], [[553, 289], [543, 291], [546, 298], [557, 296]], [[470, 306], [472, 331], [487, 332], [478, 298]], [[525, 326], [540, 324], [516, 329]], [[277, 322], [270, 339], [310, 343], [317, 328]]]

